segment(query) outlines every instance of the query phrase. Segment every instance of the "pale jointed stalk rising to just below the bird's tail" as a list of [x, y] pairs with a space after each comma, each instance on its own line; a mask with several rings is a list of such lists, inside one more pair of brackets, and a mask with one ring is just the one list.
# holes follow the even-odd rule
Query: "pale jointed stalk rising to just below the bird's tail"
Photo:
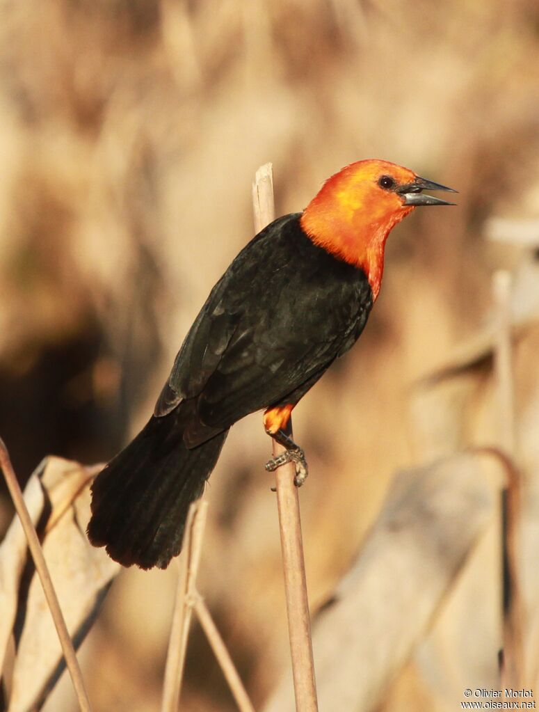
[[176, 603], [172, 617], [169, 652], [166, 656], [163, 702], [161, 712], [177, 712], [180, 700], [183, 669], [186, 661], [187, 638], [193, 605], [198, 597], [196, 575], [201, 559], [202, 540], [206, 526], [208, 503], [193, 502], [183, 535], [183, 554], [176, 589]]

